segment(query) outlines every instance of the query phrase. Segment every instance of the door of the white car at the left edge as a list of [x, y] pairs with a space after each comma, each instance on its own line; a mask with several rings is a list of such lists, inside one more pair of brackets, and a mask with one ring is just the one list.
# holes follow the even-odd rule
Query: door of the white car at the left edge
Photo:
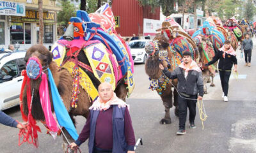
[[[20, 87], [22, 77], [19, 77], [19, 67], [14, 59], [8, 61], [0, 69], [0, 110], [19, 105]], [[4, 81], [3, 78], [11, 76], [12, 80]]]

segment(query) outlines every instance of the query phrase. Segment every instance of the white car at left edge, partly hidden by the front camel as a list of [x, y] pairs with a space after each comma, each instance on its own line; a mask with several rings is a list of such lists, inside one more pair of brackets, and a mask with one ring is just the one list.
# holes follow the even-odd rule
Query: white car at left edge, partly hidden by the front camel
[[0, 110], [19, 105], [26, 52], [0, 52]]

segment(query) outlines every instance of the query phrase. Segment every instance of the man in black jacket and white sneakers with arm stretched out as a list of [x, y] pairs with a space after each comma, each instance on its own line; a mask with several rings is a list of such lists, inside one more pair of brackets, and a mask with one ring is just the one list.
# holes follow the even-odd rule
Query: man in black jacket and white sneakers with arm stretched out
[[205, 64], [205, 66], [209, 66], [214, 64], [214, 62], [219, 62], [219, 72], [220, 72], [220, 81], [221, 87], [223, 91], [222, 97], [225, 102], [228, 102], [228, 81], [231, 74], [231, 69], [234, 64], [235, 69], [234, 71], [237, 72], [237, 59], [236, 59], [236, 52], [231, 47], [230, 41], [226, 40], [223, 47], [221, 47], [218, 52], [213, 57], [212, 61]]

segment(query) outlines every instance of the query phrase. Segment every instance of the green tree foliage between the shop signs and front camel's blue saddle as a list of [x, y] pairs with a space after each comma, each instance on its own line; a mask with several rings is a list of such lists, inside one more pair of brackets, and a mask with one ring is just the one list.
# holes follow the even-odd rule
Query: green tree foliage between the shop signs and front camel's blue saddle
[[60, 3], [62, 11], [59, 11], [57, 14], [58, 24], [68, 24], [70, 17], [76, 17], [77, 8], [68, 0], [61, 0]]

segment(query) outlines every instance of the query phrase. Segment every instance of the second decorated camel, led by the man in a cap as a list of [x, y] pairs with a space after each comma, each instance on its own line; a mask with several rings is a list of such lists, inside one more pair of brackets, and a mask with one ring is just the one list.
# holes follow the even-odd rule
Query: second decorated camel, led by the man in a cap
[[165, 115], [160, 123], [170, 124], [170, 108], [173, 105], [175, 106], [175, 115], [178, 116], [179, 114], [178, 93], [175, 89], [172, 91], [172, 87], [177, 86], [177, 80], [168, 79], [159, 69], [159, 63], [173, 71], [182, 62], [182, 52], [191, 52], [193, 59], [196, 59], [198, 54], [195, 55], [197, 48], [193, 48], [193, 45], [184, 37], [184, 34], [173, 28], [170, 22], [163, 22], [159, 31], [161, 31], [161, 34], [157, 34], [154, 40], [145, 47], [146, 52], [150, 55], [145, 64], [145, 71], [150, 80], [149, 89], [156, 90], [163, 101]]

